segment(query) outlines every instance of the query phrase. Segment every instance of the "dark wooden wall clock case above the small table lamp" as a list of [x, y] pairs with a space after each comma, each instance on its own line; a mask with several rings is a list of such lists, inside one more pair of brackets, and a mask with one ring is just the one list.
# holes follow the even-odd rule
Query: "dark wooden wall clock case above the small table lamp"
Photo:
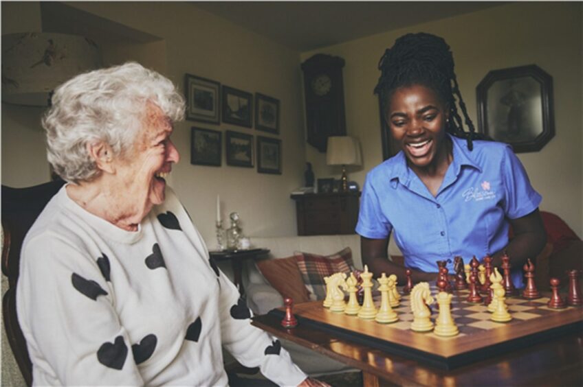
[[326, 152], [328, 137], [346, 135], [344, 59], [316, 54], [303, 62], [307, 143]]

